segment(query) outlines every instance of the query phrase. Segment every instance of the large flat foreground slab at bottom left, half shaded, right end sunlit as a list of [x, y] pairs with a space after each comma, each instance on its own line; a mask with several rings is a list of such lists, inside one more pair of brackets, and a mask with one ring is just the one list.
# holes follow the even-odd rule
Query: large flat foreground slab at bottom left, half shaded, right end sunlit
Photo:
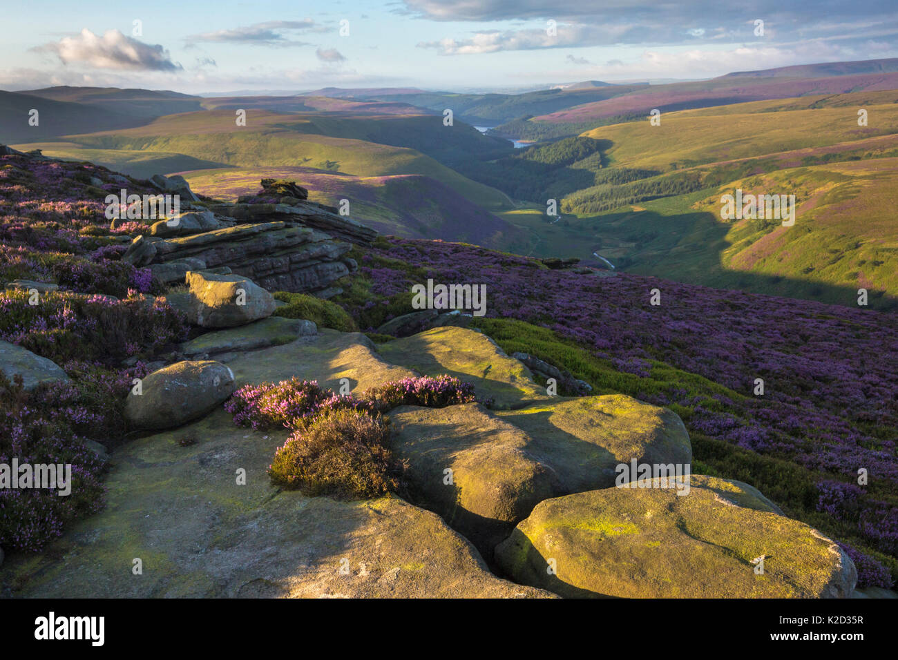
[[[195, 444], [181, 446], [185, 437]], [[7, 557], [24, 597], [541, 597], [489, 573], [430, 512], [398, 497], [338, 502], [278, 491], [266, 468], [286, 430], [219, 409], [113, 456], [106, 508], [40, 555]], [[235, 472], [246, 471], [237, 485]], [[134, 575], [134, 559], [143, 574]]]

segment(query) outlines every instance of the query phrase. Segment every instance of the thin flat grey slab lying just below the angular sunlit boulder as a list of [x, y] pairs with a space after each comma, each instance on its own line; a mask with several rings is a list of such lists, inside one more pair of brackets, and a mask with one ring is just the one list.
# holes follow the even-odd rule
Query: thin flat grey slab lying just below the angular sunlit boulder
[[253, 321], [240, 328], [207, 332], [185, 342], [180, 350], [186, 356], [253, 350], [288, 344], [300, 337], [313, 336], [317, 332], [313, 321], [269, 316], [267, 319]]

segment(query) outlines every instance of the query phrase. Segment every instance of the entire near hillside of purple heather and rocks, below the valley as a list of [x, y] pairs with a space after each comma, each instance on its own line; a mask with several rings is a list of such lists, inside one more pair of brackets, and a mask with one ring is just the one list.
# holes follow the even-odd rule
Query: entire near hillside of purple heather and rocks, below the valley
[[[0, 158], [0, 364], [29, 377], [0, 380], [0, 462], [68, 462], [75, 475], [71, 498], [3, 491], [0, 546], [11, 568], [0, 588], [9, 593], [255, 594], [247, 592], [254, 575], [281, 595], [340, 593], [348, 587], [332, 582], [327, 561], [345, 552], [339, 539], [368, 548], [366, 529], [379, 530], [391, 558], [420, 559], [409, 548], [427, 538], [427, 557], [444, 559], [421, 566], [440, 594], [457, 594], [448, 585], [464, 576], [464, 594], [577, 595], [527, 568], [524, 550], [545, 542], [539, 521], [558, 507], [573, 507], [564, 517], [573, 520], [591, 510], [581, 499], [611, 498], [603, 515], [631, 520], [629, 507], [642, 502], [661, 517], [634, 538], [648, 548], [680, 542], [662, 492], [610, 488], [613, 464], [633, 447], [691, 464], [694, 505], [682, 515], [702, 526], [701, 538], [732, 550], [692, 550], [718, 567], [698, 592], [649, 553], [638, 555], [640, 566], [673, 591], [600, 560], [605, 568], [585, 570], [577, 583], [583, 593], [844, 596], [855, 569], [858, 588], [894, 585], [893, 315], [465, 243], [374, 239], [284, 180], [263, 180], [225, 204], [177, 178], [133, 180], [33, 154]], [[362, 192], [347, 183], [350, 197]], [[179, 189], [190, 199], [182, 228], [110, 223], [101, 200], [122, 186]], [[271, 275], [281, 262], [292, 265]], [[313, 272], [331, 280], [308, 288]], [[485, 286], [485, 314], [416, 312], [411, 287], [428, 279]], [[294, 288], [272, 296], [254, 282]], [[222, 295], [238, 283], [251, 295], [245, 307]], [[560, 392], [546, 373], [559, 375]], [[189, 389], [169, 396], [170, 387]], [[216, 493], [218, 470], [231, 460], [267, 473], [271, 485], [255, 478], [234, 496], [216, 494], [201, 515], [176, 506], [196, 488]], [[443, 474], [443, 461], [461, 488], [451, 501], [431, 476]], [[186, 478], [197, 464], [199, 476]], [[172, 474], [180, 475], [174, 490]], [[721, 505], [721, 494], [738, 506]], [[165, 503], [161, 518], [147, 520], [150, 502]], [[311, 537], [290, 533], [296, 502], [312, 516], [304, 529], [319, 530]], [[357, 528], [363, 509], [380, 513]], [[210, 515], [223, 521], [212, 535], [203, 526]], [[164, 538], [159, 524], [170, 531]], [[281, 559], [236, 540], [258, 524]], [[744, 531], [733, 536], [731, 524]], [[329, 532], [335, 525], [339, 538]], [[827, 550], [821, 532], [841, 550]], [[211, 552], [223, 538], [240, 561], [184, 582], [187, 539]], [[582, 559], [577, 542], [559, 549], [565, 561]], [[121, 543], [134, 554], [161, 543], [162, 572], [145, 585], [121, 583]], [[283, 555], [308, 552], [308, 543], [330, 558], [311, 573]], [[770, 543], [783, 554], [761, 583], [745, 562]], [[77, 550], [61, 560], [62, 548]], [[712, 579], [715, 571], [731, 577]], [[421, 595], [419, 579], [408, 570], [390, 592], [362, 581], [351, 594]]]

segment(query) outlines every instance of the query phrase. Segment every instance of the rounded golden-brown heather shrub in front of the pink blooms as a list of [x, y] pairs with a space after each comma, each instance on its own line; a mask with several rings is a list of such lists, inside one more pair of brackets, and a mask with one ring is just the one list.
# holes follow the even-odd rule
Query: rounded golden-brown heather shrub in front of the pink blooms
[[304, 495], [378, 497], [399, 488], [389, 427], [361, 410], [331, 410], [277, 449], [271, 480]]

